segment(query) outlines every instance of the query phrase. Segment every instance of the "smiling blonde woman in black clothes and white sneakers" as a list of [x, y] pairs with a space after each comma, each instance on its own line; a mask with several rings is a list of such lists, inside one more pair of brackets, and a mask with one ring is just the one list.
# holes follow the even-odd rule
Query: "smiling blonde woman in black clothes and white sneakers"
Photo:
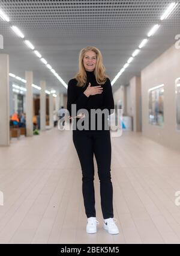
[[[68, 83], [67, 109], [73, 118], [73, 142], [82, 167], [82, 193], [85, 212], [88, 218], [87, 233], [97, 232], [94, 194], [94, 155], [98, 166], [100, 180], [101, 209], [104, 218], [104, 229], [110, 234], [118, 234], [119, 229], [113, 219], [113, 187], [110, 175], [111, 142], [110, 131], [106, 130], [107, 117], [114, 109], [112, 86], [105, 74], [101, 52], [92, 46], [80, 51], [79, 72]], [[76, 115], [71, 105], [76, 104]], [[73, 107], [72, 107], [73, 108]], [[77, 116], [77, 111], [86, 109], [88, 117], [83, 113]], [[98, 129], [96, 117], [91, 116], [91, 110], [107, 110], [107, 116], [101, 119], [102, 127]], [[74, 128], [78, 122], [88, 119], [88, 129]], [[95, 122], [95, 129], [91, 124]], [[76, 130], [75, 130], [76, 129]]]

